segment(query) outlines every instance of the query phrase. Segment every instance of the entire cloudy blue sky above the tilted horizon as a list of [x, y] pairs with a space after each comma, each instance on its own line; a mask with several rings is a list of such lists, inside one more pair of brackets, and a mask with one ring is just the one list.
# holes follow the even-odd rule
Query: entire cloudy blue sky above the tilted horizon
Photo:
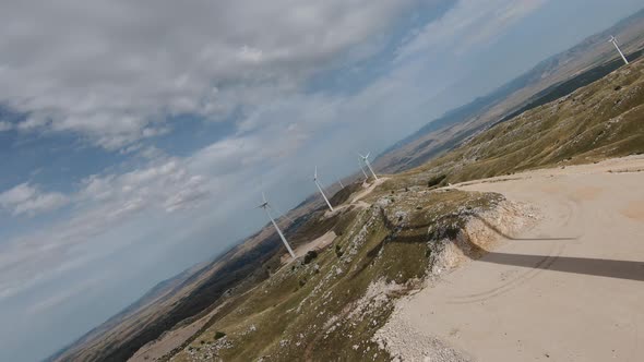
[[0, 361], [37, 361], [641, 0], [0, 0]]

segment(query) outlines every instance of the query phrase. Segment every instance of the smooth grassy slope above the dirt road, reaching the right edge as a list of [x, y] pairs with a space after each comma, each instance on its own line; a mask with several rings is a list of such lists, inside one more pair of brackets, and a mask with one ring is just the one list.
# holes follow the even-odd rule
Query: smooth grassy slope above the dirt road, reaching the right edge
[[499, 123], [404, 176], [417, 185], [437, 174], [456, 183], [644, 153], [643, 74], [644, 63], [632, 63], [562, 99]]

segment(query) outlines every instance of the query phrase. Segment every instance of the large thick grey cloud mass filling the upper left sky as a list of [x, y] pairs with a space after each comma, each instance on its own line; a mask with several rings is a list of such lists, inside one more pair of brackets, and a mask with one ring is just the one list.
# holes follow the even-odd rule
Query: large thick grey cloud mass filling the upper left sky
[[[415, 1], [3, 3], [0, 102], [107, 149], [278, 99]], [[154, 9], [154, 11], [151, 11]]]

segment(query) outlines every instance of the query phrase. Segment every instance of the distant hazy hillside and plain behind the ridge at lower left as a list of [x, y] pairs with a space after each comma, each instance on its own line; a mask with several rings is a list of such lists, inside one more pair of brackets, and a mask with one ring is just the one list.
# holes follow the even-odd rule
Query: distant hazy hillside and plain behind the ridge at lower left
[[[293, 234], [322, 206], [311, 197], [278, 220]], [[297, 244], [297, 240], [295, 240]], [[264, 280], [275, 267], [282, 241], [271, 225], [241, 241], [211, 262], [196, 265], [162, 281], [140, 300], [100, 326], [49, 357], [46, 361], [127, 360], [145, 343], [181, 322], [208, 313], [227, 292], [247, 290]]]

